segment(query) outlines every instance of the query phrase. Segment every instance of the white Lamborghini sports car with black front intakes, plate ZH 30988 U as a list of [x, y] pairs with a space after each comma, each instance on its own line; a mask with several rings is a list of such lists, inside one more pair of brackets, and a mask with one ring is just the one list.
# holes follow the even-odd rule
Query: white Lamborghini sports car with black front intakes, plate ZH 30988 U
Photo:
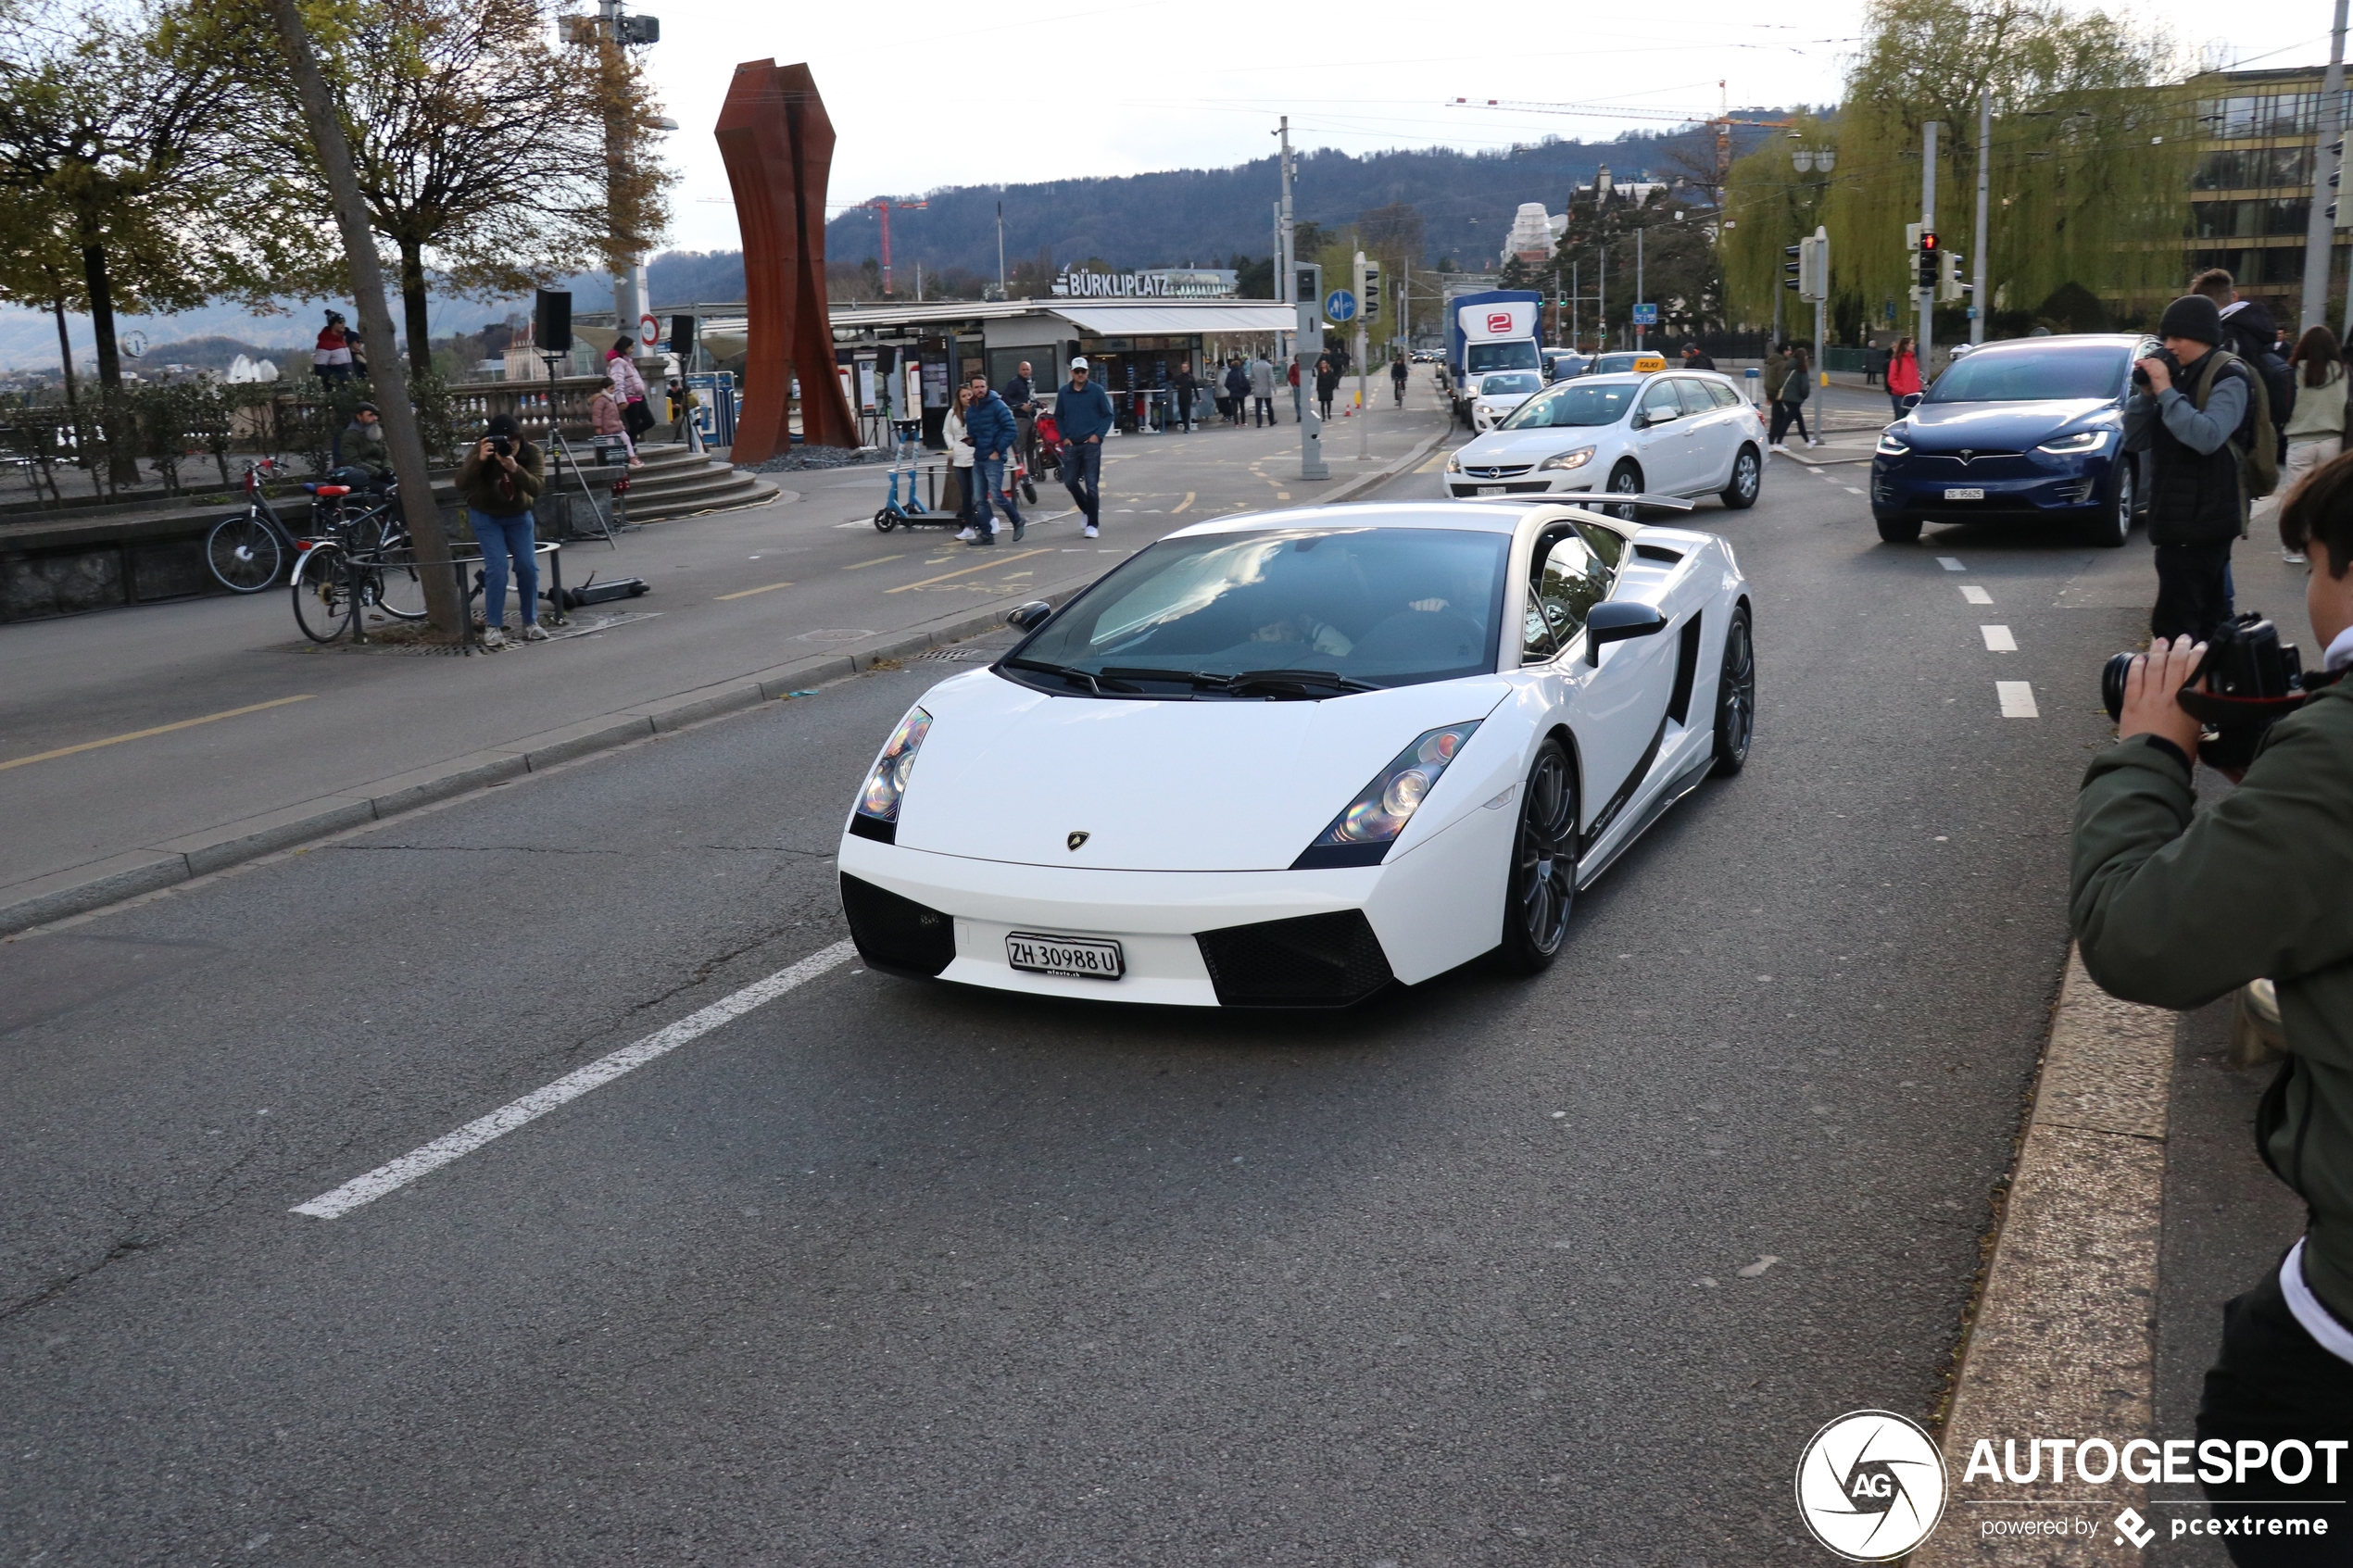
[[842, 830], [875, 969], [1186, 1006], [1532, 973], [1755, 724], [1732, 548], [1569, 505], [1221, 517], [1009, 621]]

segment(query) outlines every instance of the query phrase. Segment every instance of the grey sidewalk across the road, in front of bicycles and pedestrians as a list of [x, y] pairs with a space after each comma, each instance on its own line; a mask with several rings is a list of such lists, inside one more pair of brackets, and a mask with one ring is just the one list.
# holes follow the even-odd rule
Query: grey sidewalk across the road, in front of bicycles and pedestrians
[[1372, 461], [1334, 421], [1318, 484], [1297, 480], [1289, 423], [1125, 437], [1096, 541], [1054, 484], [1021, 543], [967, 550], [941, 529], [878, 534], [878, 468], [786, 475], [802, 489], [779, 503], [567, 550], [572, 585], [600, 571], [654, 592], [487, 658], [318, 649], [282, 590], [5, 628], [0, 933], [969, 637], [1176, 527], [1346, 501], [1447, 437], [1433, 407], [1360, 418]]

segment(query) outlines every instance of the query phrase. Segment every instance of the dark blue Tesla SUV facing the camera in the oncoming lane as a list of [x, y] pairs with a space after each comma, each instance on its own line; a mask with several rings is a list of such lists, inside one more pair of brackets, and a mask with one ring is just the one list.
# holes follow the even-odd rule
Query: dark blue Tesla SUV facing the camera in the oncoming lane
[[2097, 543], [2132, 534], [2125, 456], [2132, 334], [2009, 339], [1953, 362], [1871, 458], [1880, 538], [1913, 543], [1925, 522], [2064, 522]]

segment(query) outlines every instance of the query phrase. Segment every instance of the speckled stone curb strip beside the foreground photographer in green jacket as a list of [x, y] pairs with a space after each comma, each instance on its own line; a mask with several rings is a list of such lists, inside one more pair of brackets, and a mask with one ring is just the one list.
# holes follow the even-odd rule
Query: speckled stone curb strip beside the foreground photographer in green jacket
[[[2080, 1481], [1972, 1486], [1979, 1439], [2104, 1436], [2118, 1448], [2153, 1436], [2158, 1239], [2165, 1197], [2165, 1107], [2177, 1013], [2099, 990], [2068, 945], [2033, 1110], [2000, 1201], [1974, 1312], [1955, 1349], [1941, 1448], [1953, 1505], [1913, 1568], [2042, 1561], [2033, 1542], [1981, 1540], [1977, 1497], [2059, 1502]], [[2146, 1509], [2148, 1488], [2101, 1488], [2101, 1507]], [[2106, 1523], [2106, 1521], [2101, 1521]], [[1955, 1528], [1958, 1526], [1958, 1528]], [[2087, 1542], [2078, 1542], [2087, 1544]], [[2139, 1561], [2099, 1544], [2075, 1561]]]

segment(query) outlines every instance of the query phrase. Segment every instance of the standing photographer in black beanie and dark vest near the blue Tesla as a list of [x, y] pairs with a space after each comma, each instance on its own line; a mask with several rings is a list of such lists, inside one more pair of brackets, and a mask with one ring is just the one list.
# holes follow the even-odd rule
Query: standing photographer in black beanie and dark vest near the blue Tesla
[[[2141, 360], [2125, 402], [2125, 449], [2151, 454], [2148, 543], [2158, 548], [2158, 637], [2207, 637], [2228, 616], [2231, 541], [2247, 522], [2240, 463], [2254, 440], [2254, 383], [2224, 355], [2221, 310], [2205, 294], [2165, 308], [2158, 336], [2172, 360]], [[2139, 381], [2146, 376], [2148, 386]]]

